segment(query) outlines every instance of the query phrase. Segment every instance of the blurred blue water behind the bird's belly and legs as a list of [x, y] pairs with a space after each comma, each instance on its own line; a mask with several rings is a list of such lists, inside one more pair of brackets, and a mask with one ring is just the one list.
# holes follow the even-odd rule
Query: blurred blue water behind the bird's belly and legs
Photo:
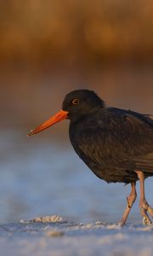
[[[122, 217], [129, 186], [95, 177], [68, 141], [27, 138], [26, 131], [2, 131], [0, 140], [0, 223], [53, 214], [80, 222], [114, 223]], [[150, 205], [152, 181], [145, 182]], [[141, 220], [137, 200], [128, 222]]]

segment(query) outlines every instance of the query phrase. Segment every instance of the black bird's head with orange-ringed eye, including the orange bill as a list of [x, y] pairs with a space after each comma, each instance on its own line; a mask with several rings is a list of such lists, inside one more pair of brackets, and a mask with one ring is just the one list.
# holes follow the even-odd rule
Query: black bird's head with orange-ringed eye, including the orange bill
[[105, 102], [93, 90], [73, 90], [65, 96], [62, 109], [42, 125], [32, 130], [28, 137], [47, 129], [63, 119], [70, 119], [73, 123], [77, 122], [98, 108], [105, 108]]

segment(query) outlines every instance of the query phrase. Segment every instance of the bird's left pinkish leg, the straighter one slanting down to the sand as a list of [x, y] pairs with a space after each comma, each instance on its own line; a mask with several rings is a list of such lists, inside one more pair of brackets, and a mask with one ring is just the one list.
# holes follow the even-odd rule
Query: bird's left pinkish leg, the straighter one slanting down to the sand
[[127, 217], [129, 212], [131, 211], [131, 208], [133, 207], [133, 203], [136, 200], [137, 197], [137, 192], [135, 189], [135, 182], [131, 183], [131, 192], [130, 195], [127, 196], [127, 207], [122, 215], [122, 220], [120, 221], [119, 224], [122, 226], [126, 223]]

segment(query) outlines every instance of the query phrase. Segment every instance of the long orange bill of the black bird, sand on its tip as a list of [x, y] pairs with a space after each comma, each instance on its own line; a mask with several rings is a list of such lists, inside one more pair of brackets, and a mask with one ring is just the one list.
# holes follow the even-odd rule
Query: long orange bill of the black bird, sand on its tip
[[31, 132], [28, 134], [28, 137], [31, 137], [32, 135], [47, 129], [48, 127], [64, 120], [67, 118], [67, 111], [64, 111], [61, 109], [58, 113], [55, 113], [53, 117], [48, 119], [46, 122], [44, 122], [42, 125], [37, 126], [34, 130], [31, 130]]

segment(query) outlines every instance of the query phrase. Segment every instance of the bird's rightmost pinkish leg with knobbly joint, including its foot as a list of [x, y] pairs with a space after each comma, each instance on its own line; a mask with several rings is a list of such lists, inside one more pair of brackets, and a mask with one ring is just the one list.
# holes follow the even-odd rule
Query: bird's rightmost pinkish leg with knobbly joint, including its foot
[[150, 207], [148, 202], [145, 199], [144, 195], [144, 172], [135, 171], [139, 177], [139, 185], [140, 185], [140, 199], [139, 199], [139, 209], [143, 218], [143, 224], [151, 224], [151, 220], [147, 214], [150, 213], [150, 216], [153, 218], [153, 209]]

